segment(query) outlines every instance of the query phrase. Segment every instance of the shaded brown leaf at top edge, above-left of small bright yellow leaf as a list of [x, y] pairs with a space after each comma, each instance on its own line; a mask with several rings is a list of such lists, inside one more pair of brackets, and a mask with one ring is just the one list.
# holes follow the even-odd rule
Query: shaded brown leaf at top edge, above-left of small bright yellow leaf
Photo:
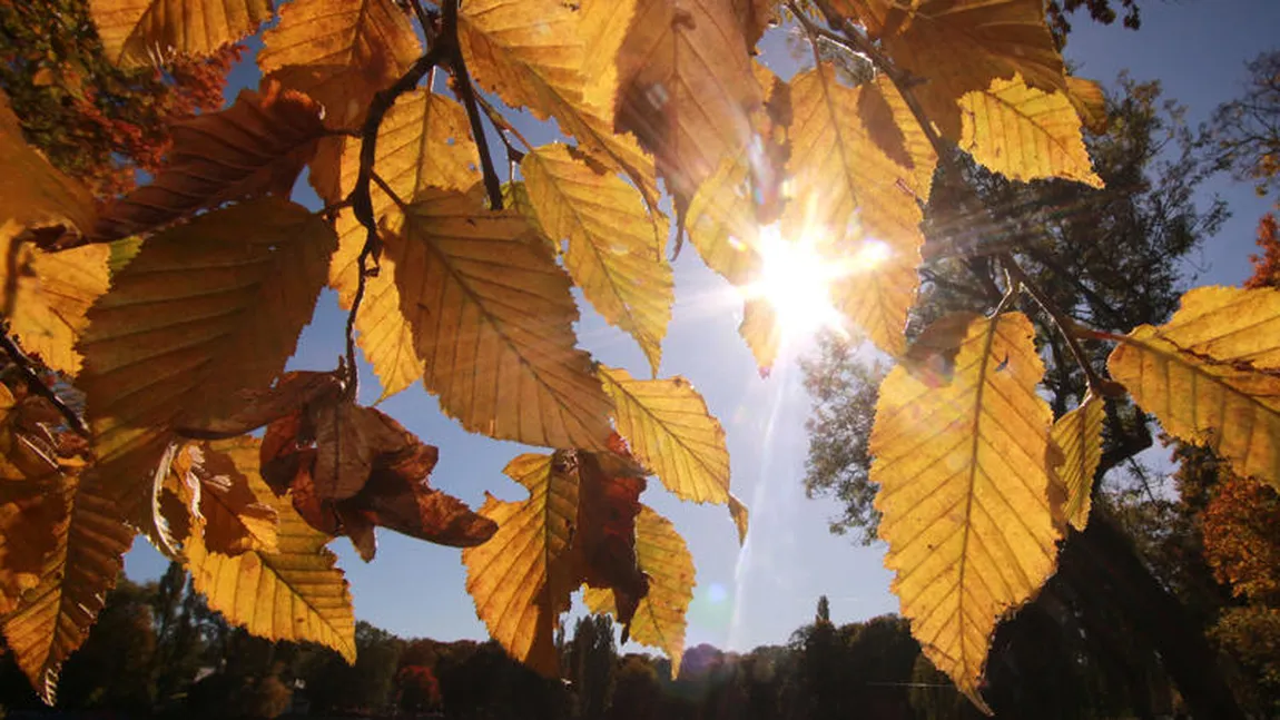
[[1015, 73], [1042, 91], [1066, 83], [1042, 0], [924, 0], [883, 43], [899, 68], [924, 81], [914, 93], [925, 116], [955, 142], [957, 102], [966, 93]]

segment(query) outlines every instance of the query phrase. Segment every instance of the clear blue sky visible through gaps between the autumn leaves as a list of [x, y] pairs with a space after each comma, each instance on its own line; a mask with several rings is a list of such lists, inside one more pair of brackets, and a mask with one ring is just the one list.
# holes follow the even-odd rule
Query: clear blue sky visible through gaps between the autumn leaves
[[[1166, 96], [1187, 105], [1192, 124], [1239, 95], [1245, 60], [1275, 47], [1280, 28], [1277, 0], [1147, 0], [1142, 13], [1138, 32], [1119, 23], [1098, 27], [1078, 15], [1066, 55], [1079, 65], [1078, 74], [1108, 86], [1123, 69], [1139, 81], [1162, 81]], [[762, 60], [790, 75], [792, 63], [778, 33], [773, 35], [765, 38]], [[230, 97], [239, 87], [256, 86], [252, 58], [233, 72], [232, 83]], [[535, 143], [554, 139], [549, 129], [531, 132], [535, 134], [526, 136]], [[1228, 201], [1233, 217], [1197, 258], [1197, 283], [1236, 284], [1249, 272], [1254, 226], [1268, 202], [1225, 176], [1206, 189], [1201, 202], [1216, 193]], [[301, 194], [298, 200], [306, 202]], [[785, 643], [794, 629], [812, 622], [819, 595], [831, 599], [836, 623], [896, 611], [897, 600], [888, 592], [890, 573], [881, 565], [883, 547], [863, 547], [829, 535], [827, 519], [836, 514], [836, 506], [804, 496], [809, 399], [794, 356], [808, 348], [792, 348], [791, 358], [780, 362], [771, 377], [760, 379], [737, 335], [740, 303], [728, 285], [701, 265], [692, 248], [676, 261], [675, 271], [676, 307], [663, 344], [662, 375], [685, 376], [707, 398], [728, 436], [732, 490], [751, 508], [750, 536], [745, 547], [739, 547], [723, 506], [681, 503], [657, 480], [641, 497], [675, 522], [698, 565], [686, 646], [709, 642], [749, 650]], [[648, 364], [635, 343], [581, 306], [580, 344], [602, 362], [646, 376]], [[342, 353], [343, 317], [335, 297], [326, 292], [292, 367], [332, 370]], [[372, 403], [379, 395], [376, 380], [367, 366], [364, 371], [361, 399]], [[472, 506], [481, 504], [485, 490], [504, 500], [525, 497], [502, 468], [526, 448], [467, 435], [439, 414], [435, 398], [420, 385], [388, 399], [381, 409], [439, 445], [440, 462], [431, 477], [436, 487]], [[379, 531], [378, 540], [378, 558], [371, 564], [362, 563], [346, 538], [333, 544], [352, 583], [357, 618], [403, 637], [485, 637], [466, 593], [458, 550], [388, 531]], [[138, 540], [125, 559], [125, 570], [133, 578], [152, 578], [164, 563]], [[575, 613], [580, 611], [576, 606]]]

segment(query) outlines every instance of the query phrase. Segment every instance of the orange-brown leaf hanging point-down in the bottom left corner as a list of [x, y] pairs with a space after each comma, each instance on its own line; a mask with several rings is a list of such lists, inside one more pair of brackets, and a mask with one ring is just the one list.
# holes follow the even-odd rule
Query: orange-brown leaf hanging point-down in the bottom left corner
[[68, 519], [56, 526], [56, 542], [45, 556], [38, 584], [5, 618], [9, 650], [47, 703], [54, 701], [63, 662], [88, 636], [133, 542], [133, 531], [120, 522], [120, 512], [104, 490], [91, 477], [61, 487]]

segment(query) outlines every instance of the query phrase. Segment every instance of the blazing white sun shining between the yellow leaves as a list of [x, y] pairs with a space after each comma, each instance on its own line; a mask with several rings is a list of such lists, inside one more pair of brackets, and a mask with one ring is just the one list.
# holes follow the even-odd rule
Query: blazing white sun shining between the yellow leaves
[[832, 302], [836, 283], [865, 272], [888, 254], [884, 243], [865, 239], [850, 257], [827, 257], [808, 233], [786, 239], [777, 225], [760, 229], [756, 249], [762, 261], [760, 276], [746, 288], [746, 297], [769, 303], [783, 344], [809, 338], [822, 329], [844, 333], [846, 321]]

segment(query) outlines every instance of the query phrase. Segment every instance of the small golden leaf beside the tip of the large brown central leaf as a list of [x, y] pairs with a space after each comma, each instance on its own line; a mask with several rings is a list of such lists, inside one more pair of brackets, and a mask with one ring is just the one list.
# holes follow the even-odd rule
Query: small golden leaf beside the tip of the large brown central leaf
[[617, 405], [618, 434], [667, 490], [695, 503], [728, 501], [724, 428], [687, 380], [634, 380], [603, 366], [600, 379]]

